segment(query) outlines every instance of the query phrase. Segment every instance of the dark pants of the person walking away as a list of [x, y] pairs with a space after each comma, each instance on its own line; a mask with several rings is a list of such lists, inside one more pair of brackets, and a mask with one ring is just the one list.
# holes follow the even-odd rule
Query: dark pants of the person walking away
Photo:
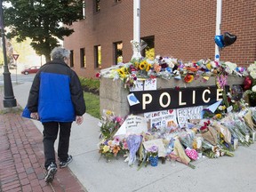
[[60, 138], [58, 146], [58, 157], [60, 161], [67, 161], [68, 159], [68, 148], [69, 148], [69, 137], [71, 132], [71, 124], [68, 123], [58, 123], [58, 122], [47, 122], [43, 123], [44, 125], [44, 166], [47, 167], [54, 163], [55, 161], [55, 151], [54, 151], [54, 142], [57, 139], [59, 127], [60, 127]]

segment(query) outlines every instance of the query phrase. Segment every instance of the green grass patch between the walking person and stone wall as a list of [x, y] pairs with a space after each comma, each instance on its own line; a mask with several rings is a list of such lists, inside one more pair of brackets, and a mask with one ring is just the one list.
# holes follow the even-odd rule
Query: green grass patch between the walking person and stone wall
[[92, 94], [91, 92], [84, 92], [84, 100], [86, 113], [100, 119], [100, 96]]

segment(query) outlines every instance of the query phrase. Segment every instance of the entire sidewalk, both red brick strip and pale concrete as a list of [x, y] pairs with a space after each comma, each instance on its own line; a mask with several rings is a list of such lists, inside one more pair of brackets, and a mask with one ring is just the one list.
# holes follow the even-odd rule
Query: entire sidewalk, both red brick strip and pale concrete
[[[13, 85], [15, 98], [22, 108], [28, 100], [30, 86], [31, 83]], [[98, 123], [99, 119], [85, 114], [83, 124], [79, 126], [73, 124], [69, 153], [74, 160], [68, 164], [69, 169], [59, 169], [52, 186], [47, 186], [43, 180], [42, 169], [44, 164], [42, 133], [40, 133], [43, 130], [42, 124], [23, 119], [19, 113], [0, 114], [1, 188], [4, 192], [9, 191], [6, 188], [13, 189], [10, 191], [29, 191], [19, 190], [18, 186], [40, 188], [33, 190], [36, 192], [83, 191], [77, 181], [79, 180], [90, 192], [255, 191], [255, 143], [250, 147], [239, 146], [234, 157], [222, 156], [218, 159], [204, 157], [196, 160], [193, 162], [196, 169], [180, 163], [172, 166], [168, 161], [161, 164], [159, 161], [157, 167], [141, 167], [140, 171], [137, 171], [137, 164], [129, 167], [122, 157], [109, 163], [103, 157], [100, 158], [97, 148], [100, 133]], [[58, 142], [55, 143], [55, 147], [57, 145]], [[72, 188], [74, 183], [76, 187]]]

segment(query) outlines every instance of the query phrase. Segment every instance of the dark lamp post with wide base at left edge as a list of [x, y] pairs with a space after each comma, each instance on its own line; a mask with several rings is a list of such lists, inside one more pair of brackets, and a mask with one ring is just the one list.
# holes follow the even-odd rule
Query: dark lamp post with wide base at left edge
[[2, 0], [0, 0], [0, 28], [4, 53], [4, 108], [12, 108], [17, 106], [17, 102], [13, 95], [11, 73], [9, 72], [7, 64]]

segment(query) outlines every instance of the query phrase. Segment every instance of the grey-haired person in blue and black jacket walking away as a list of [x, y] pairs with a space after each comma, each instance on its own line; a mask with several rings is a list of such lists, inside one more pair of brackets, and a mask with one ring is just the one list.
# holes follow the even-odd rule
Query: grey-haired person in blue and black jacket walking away
[[60, 168], [66, 167], [72, 156], [68, 155], [71, 124], [82, 124], [86, 111], [84, 93], [76, 72], [68, 67], [70, 52], [56, 47], [52, 60], [36, 73], [28, 96], [30, 117], [44, 125], [45, 182], [52, 182], [57, 172], [54, 142], [60, 129], [58, 157]]

